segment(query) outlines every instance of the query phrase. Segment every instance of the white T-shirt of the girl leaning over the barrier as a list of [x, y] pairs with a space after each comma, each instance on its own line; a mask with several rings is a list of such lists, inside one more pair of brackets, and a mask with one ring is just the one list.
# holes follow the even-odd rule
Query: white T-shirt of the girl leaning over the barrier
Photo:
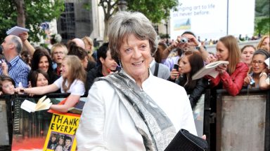
[[[58, 87], [59, 89], [61, 88], [61, 93], [70, 93], [72, 95], [79, 95], [79, 96], [84, 95], [85, 87], [84, 87], [84, 82], [82, 82], [82, 80], [77, 80], [77, 79], [74, 80], [72, 84], [70, 85], [70, 89], [68, 89], [68, 92], [64, 92], [62, 83], [63, 83], [63, 76], [61, 76], [55, 82], [53, 82], [53, 84], [55, 84], [56, 87]], [[65, 82], [65, 85], [68, 86], [67, 81]]]

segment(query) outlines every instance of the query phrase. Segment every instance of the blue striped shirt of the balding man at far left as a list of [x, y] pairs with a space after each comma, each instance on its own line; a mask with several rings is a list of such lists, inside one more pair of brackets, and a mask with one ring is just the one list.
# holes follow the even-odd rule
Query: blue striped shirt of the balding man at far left
[[[18, 87], [19, 82], [22, 82], [23, 87], [27, 87], [27, 75], [30, 72], [27, 64], [25, 64], [25, 62], [23, 62], [19, 56], [15, 57], [11, 60], [11, 62], [7, 62], [6, 64], [8, 64], [8, 75], [15, 81], [15, 87]], [[3, 74], [1, 68], [0, 74]]]

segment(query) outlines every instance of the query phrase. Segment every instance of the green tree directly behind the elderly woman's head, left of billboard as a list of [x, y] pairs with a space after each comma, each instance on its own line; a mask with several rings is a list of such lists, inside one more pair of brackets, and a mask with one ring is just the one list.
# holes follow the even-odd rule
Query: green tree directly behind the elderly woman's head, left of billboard
[[[159, 23], [162, 19], [169, 17], [169, 10], [176, 9], [178, 0], [126, 0], [127, 8], [131, 11], [138, 11], [146, 15], [153, 23]], [[103, 8], [105, 31], [103, 40], [107, 41], [108, 20], [110, 16], [118, 11], [117, 3], [119, 0], [101, 0], [98, 4]]]

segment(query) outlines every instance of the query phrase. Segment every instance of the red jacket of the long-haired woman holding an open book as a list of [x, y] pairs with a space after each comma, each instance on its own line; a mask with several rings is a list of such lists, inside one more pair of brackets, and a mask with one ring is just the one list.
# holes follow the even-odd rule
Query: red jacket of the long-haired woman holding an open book
[[244, 62], [236, 64], [236, 70], [229, 75], [224, 72], [222, 75], [217, 75], [217, 78], [207, 76], [211, 80], [212, 87], [219, 85], [222, 82], [223, 89], [226, 89], [231, 96], [236, 96], [243, 87], [244, 79], [248, 73], [248, 65]]

